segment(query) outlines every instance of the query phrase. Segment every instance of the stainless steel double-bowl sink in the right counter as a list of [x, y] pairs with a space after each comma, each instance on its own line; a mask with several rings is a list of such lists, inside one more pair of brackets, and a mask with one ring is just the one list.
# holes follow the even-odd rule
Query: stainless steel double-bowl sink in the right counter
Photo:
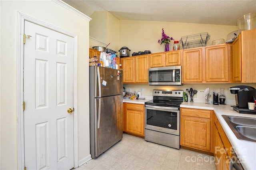
[[222, 117], [238, 139], [256, 142], [256, 118], [228, 115]]

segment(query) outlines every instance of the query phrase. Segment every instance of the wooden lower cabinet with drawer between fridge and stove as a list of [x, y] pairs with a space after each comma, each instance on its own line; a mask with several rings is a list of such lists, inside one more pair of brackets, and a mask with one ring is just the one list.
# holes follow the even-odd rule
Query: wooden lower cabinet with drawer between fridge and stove
[[124, 132], [144, 137], [144, 104], [123, 103]]

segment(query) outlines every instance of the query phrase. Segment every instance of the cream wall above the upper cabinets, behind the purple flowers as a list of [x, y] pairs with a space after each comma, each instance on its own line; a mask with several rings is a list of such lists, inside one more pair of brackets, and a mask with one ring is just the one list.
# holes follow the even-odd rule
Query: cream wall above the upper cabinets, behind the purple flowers
[[[213, 40], [223, 38], [226, 41], [227, 34], [237, 30], [237, 26], [193, 24], [180, 22], [152, 22], [120, 20], [120, 48], [128, 47], [132, 52], [150, 50], [152, 53], [164, 52], [164, 44], [158, 44], [162, 38], [162, 28], [167, 36], [180, 41], [182, 36], [208, 32], [210, 40], [207, 45], [212, 45]], [[173, 41], [170, 42], [170, 51]]]

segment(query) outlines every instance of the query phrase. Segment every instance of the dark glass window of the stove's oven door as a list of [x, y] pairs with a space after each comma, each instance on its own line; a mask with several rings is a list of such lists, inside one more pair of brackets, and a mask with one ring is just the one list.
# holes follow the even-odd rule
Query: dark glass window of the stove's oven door
[[177, 112], [147, 109], [146, 114], [146, 124], [177, 130]]

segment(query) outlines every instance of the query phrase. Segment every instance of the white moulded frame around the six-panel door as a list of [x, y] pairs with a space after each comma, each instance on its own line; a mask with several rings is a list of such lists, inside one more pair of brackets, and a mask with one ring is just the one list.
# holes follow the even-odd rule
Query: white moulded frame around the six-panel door
[[17, 23], [17, 142], [18, 142], [18, 169], [24, 170], [25, 167], [25, 149], [24, 149], [24, 111], [23, 111], [23, 67], [24, 67], [24, 23], [25, 20], [34, 24], [43, 26], [50, 30], [60, 32], [67, 36], [74, 38], [74, 78], [73, 78], [73, 140], [74, 140], [74, 168], [78, 167], [78, 85], [77, 85], [77, 60], [78, 60], [78, 36], [66, 30], [62, 30], [56, 26], [52, 26], [30, 16], [21, 14], [18, 12], [18, 23]]

